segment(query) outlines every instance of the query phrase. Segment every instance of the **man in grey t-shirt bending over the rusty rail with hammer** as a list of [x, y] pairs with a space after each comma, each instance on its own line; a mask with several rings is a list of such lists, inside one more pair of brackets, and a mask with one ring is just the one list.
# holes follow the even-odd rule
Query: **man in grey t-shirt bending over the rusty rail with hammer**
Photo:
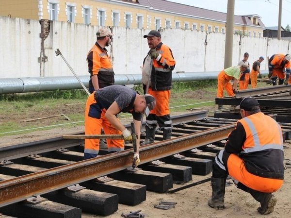
[[[120, 112], [130, 113], [133, 117], [137, 135], [137, 152], [134, 158], [139, 163], [140, 127], [143, 114], [148, 116], [154, 109], [156, 100], [153, 96], [139, 95], [136, 91], [123, 85], [111, 85], [93, 92], [87, 99], [85, 108], [85, 134], [100, 134], [101, 127], [105, 134], [122, 134], [125, 141], [132, 136], [116, 117]], [[107, 140], [109, 152], [123, 151], [124, 140]], [[99, 139], [85, 139], [84, 159], [96, 157], [99, 152]]]

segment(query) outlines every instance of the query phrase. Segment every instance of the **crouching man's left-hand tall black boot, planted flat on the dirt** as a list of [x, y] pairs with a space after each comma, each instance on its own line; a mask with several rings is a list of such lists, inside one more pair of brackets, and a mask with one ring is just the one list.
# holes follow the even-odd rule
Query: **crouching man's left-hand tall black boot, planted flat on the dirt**
[[224, 195], [226, 193], [226, 179], [211, 178], [212, 196], [208, 205], [216, 210], [225, 209]]

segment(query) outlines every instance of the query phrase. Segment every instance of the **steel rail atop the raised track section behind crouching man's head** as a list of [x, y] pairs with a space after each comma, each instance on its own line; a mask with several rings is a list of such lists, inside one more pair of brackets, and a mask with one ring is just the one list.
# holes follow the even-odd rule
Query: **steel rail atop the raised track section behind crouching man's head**
[[261, 87], [261, 88], [250, 88], [239, 90], [235, 93], [235, 98], [242, 98], [248, 96], [262, 95], [273, 92], [281, 92], [291, 90], [291, 84], [289, 85], [273, 85], [270, 87]]

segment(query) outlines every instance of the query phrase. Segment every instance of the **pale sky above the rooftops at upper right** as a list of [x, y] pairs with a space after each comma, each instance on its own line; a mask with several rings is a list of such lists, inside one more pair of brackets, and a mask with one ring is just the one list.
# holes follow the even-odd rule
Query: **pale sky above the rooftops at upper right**
[[[227, 12], [227, 0], [168, 0], [213, 11]], [[235, 15], [256, 14], [266, 27], [278, 26], [279, 0], [235, 0]], [[282, 0], [281, 26], [291, 26], [291, 0]]]

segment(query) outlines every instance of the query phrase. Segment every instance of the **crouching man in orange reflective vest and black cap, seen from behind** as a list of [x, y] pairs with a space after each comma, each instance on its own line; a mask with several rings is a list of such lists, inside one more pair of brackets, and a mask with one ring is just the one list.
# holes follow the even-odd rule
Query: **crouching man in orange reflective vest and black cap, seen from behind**
[[[260, 202], [258, 212], [272, 213], [276, 198], [272, 194], [283, 184], [283, 138], [279, 124], [264, 115], [255, 98], [244, 98], [236, 107], [242, 119], [228, 135], [225, 149], [219, 151], [212, 166], [212, 197], [208, 205], [225, 209], [227, 175], [236, 186]], [[272, 128], [270, 128], [272, 126]]]

